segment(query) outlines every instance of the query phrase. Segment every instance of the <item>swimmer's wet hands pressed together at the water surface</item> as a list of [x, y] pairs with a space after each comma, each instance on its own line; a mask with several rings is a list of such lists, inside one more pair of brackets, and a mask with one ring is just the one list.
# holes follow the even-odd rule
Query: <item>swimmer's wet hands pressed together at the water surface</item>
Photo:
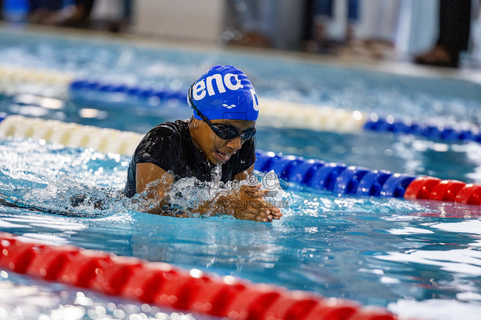
[[242, 186], [240, 190], [230, 190], [220, 196], [217, 203], [222, 201], [224, 210], [231, 212], [236, 219], [272, 222], [280, 219], [282, 213], [263, 198], [268, 192], [261, 190], [261, 184]]

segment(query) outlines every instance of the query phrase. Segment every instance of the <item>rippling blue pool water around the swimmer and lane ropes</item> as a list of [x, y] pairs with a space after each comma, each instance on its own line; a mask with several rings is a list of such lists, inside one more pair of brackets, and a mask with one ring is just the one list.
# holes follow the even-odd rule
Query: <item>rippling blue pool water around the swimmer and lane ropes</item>
[[[251, 79], [260, 96], [262, 92], [332, 105], [338, 101], [332, 98], [336, 96], [339, 101], [345, 100], [342, 107], [361, 111], [408, 112], [419, 119], [436, 116], [475, 123], [481, 110], [479, 86], [462, 81], [416, 79], [232, 52], [195, 53], [32, 35], [1, 37], [8, 40], [0, 46], [0, 52], [8, 53], [0, 55], [5, 63], [70, 69], [79, 75], [128, 74], [137, 82], [168, 85], [180, 80], [185, 86], [206, 65], [231, 63], [245, 66], [249, 75], [252, 71]], [[93, 53], [95, 59], [88, 59]], [[146, 68], [157, 73], [144, 75]], [[391, 100], [384, 97], [389, 92], [395, 93]], [[384, 104], [366, 105], [363, 99], [367, 97]], [[22, 110], [18, 108], [25, 105], [17, 100], [15, 96], [2, 96], [0, 111]], [[402, 101], [405, 104], [397, 108]], [[42, 117], [137, 132], [146, 132], [166, 120], [189, 117], [189, 109], [182, 103], [148, 107], [128, 101], [83, 99], [82, 95], [70, 96], [64, 102], [61, 110], [46, 110]], [[431, 108], [433, 103], [441, 103], [443, 108]], [[454, 104], [466, 112], [460, 113]], [[87, 107], [107, 115], [104, 119], [81, 118], [79, 110]], [[257, 148], [264, 151], [481, 182], [481, 146], [475, 142], [446, 144], [375, 132], [354, 135], [269, 127], [259, 128], [256, 139]], [[49, 244], [73, 244], [355, 299], [387, 306], [402, 316], [479, 319], [481, 209], [477, 206], [338, 198], [290, 184], [284, 196], [289, 208], [284, 209], [281, 220], [271, 224], [235, 220], [221, 213], [193, 218], [158, 216], [141, 213], [130, 200], [121, 199], [129, 161], [126, 156], [92, 149], [29, 139], [1, 140], [0, 192], [29, 204], [66, 209], [76, 216], [0, 207], [0, 230]], [[72, 206], [71, 197], [79, 194], [104, 200], [106, 209], [99, 210], [91, 203]], [[91, 292], [77, 295], [76, 288], [5, 271], [0, 273], [0, 280], [0, 296], [19, 292], [18, 298], [0, 299], [0, 319], [7, 318], [4, 315], [39, 319], [39, 314], [61, 319], [55, 318], [50, 309], [57, 312], [67, 308], [75, 317], [85, 319], [101, 319], [105, 314], [116, 317], [114, 310], [122, 310], [123, 314], [117, 311], [117, 315], [123, 317], [116, 318], [125, 319], [136, 319], [129, 317], [139, 313], [146, 317], [158, 314], [159, 319], [168, 319], [167, 315], [172, 320], [207, 319], [182, 316], [172, 310], [151, 312], [150, 306], [142, 308], [131, 301]], [[30, 301], [40, 298], [45, 303], [32, 306]]]

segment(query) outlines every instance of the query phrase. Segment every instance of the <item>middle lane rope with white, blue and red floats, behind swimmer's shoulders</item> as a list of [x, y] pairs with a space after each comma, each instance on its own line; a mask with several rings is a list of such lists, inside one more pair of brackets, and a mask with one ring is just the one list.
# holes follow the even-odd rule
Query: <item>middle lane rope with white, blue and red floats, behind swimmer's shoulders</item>
[[[102, 129], [58, 120], [8, 116], [0, 122], [0, 137], [16, 136], [70, 147], [93, 148], [104, 153], [131, 156], [143, 135], [114, 129]], [[293, 155], [256, 151], [254, 168], [274, 171], [289, 182], [331, 191], [337, 196], [379, 196], [454, 201], [481, 205], [481, 184], [435, 177], [371, 170], [361, 166], [325, 163]]]

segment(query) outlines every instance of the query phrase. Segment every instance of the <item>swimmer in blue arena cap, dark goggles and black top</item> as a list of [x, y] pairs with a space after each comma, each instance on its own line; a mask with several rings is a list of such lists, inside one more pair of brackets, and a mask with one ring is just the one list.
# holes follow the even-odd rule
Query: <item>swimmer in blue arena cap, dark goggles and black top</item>
[[[212, 181], [211, 172], [217, 165], [222, 168], [220, 181], [224, 183], [253, 174], [259, 106], [249, 78], [233, 66], [214, 66], [190, 86], [188, 102], [192, 117], [150, 130], [128, 166], [124, 193], [131, 198], [146, 191], [148, 199], [159, 203], [149, 213], [168, 214], [162, 209], [166, 207], [165, 193], [176, 178]], [[260, 184], [221, 191], [190, 213], [230, 213], [237, 219], [272, 222], [282, 213], [263, 199], [267, 192], [260, 190]]]

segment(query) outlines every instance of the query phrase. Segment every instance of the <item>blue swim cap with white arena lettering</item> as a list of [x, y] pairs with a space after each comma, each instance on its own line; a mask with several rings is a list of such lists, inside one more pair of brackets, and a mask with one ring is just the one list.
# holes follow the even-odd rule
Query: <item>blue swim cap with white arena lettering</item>
[[[217, 65], [194, 82], [189, 96], [195, 107], [209, 120], [256, 120], [259, 103], [251, 81], [233, 66]], [[190, 99], [189, 107], [193, 109]], [[202, 120], [194, 110], [194, 118]]]

